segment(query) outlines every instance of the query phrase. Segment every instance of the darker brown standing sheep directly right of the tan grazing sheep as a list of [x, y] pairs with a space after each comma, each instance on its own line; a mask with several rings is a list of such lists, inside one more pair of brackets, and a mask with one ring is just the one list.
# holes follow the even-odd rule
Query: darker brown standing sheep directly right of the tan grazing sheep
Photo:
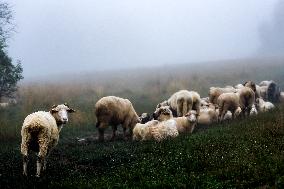
[[243, 116], [249, 116], [252, 106], [255, 102], [255, 93], [250, 87], [238, 89], [239, 104], [242, 109]]

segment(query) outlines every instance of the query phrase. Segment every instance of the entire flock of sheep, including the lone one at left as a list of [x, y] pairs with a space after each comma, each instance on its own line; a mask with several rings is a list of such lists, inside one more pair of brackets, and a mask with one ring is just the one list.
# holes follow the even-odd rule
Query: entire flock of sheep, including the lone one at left
[[[268, 111], [274, 108], [269, 101], [284, 101], [284, 93], [274, 81], [263, 81], [259, 85], [248, 81], [235, 87], [211, 87], [209, 97], [205, 98], [200, 98], [195, 91], [180, 90], [159, 103], [152, 115], [142, 113], [140, 117], [128, 99], [107, 96], [95, 104], [96, 127], [101, 141], [109, 125], [112, 126], [112, 139], [116, 136], [117, 126], [122, 125], [126, 138], [161, 141], [181, 133], [192, 133], [198, 124], [209, 125]], [[29, 152], [34, 151], [37, 152], [36, 176], [40, 177], [46, 168], [47, 156], [58, 143], [59, 132], [68, 122], [68, 113], [72, 112], [75, 110], [65, 103], [54, 105], [49, 112], [39, 111], [25, 118], [21, 130], [25, 176]]]

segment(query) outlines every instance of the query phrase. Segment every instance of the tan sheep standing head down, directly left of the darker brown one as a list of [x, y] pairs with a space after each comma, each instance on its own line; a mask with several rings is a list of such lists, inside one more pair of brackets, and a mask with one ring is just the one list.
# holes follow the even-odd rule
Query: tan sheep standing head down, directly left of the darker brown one
[[223, 93], [218, 97], [217, 103], [220, 121], [224, 120], [224, 116], [228, 110], [232, 112], [233, 119], [239, 116], [242, 111], [240, 107], [240, 97], [237, 93]]

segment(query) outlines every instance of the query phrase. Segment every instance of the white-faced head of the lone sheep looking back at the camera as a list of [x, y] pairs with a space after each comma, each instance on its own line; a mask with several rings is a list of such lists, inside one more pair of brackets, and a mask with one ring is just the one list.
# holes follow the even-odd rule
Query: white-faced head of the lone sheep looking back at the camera
[[60, 105], [53, 105], [50, 113], [59, 124], [66, 124], [68, 122], [68, 113], [73, 113], [75, 110], [70, 108], [67, 103]]

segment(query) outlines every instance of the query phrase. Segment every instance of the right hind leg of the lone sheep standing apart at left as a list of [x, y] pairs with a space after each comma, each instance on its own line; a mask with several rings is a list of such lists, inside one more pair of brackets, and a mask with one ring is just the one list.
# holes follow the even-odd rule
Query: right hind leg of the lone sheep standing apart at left
[[37, 156], [37, 162], [36, 162], [36, 177], [40, 177], [40, 173], [43, 167], [43, 164], [45, 162], [45, 158], [48, 151], [48, 139], [46, 138], [46, 135], [39, 135], [38, 136], [38, 144], [39, 144], [39, 153]]

